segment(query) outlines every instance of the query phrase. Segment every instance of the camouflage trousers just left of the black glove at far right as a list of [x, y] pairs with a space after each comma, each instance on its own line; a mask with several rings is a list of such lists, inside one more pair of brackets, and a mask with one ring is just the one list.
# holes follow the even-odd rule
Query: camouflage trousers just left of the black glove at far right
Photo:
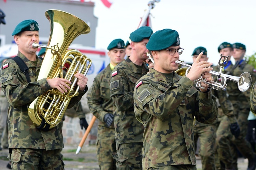
[[[220, 111], [220, 110], [219, 110]], [[219, 126], [216, 132], [216, 150], [218, 154], [219, 161], [222, 162], [225, 166], [216, 166], [218, 170], [225, 170], [233, 168], [233, 153], [231, 151], [234, 148], [234, 145], [231, 142], [233, 135], [231, 134], [229, 127], [229, 119], [227, 116], [222, 116], [218, 118]]]

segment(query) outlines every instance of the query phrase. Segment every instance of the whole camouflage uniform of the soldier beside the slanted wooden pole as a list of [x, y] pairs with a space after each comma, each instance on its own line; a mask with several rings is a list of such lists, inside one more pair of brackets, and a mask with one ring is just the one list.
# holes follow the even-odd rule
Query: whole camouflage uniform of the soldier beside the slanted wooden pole
[[107, 113], [113, 113], [113, 100], [110, 97], [109, 79], [111, 68], [108, 65], [94, 79], [94, 83], [87, 94], [87, 103], [91, 113], [100, 121], [97, 134], [97, 158], [100, 169], [116, 169], [116, 161], [112, 153], [116, 152], [115, 127], [114, 124], [109, 127], [104, 123], [104, 116]]

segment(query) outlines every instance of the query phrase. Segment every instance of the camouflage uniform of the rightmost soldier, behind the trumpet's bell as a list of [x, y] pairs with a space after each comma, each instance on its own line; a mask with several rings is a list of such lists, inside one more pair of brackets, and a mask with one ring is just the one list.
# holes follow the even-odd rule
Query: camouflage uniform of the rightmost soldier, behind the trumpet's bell
[[[228, 67], [223, 73], [227, 73], [233, 76], [240, 77], [244, 72], [249, 72], [252, 76], [252, 82], [255, 81], [256, 75], [254, 67], [247, 64], [245, 61], [242, 61], [236, 68], [233, 69], [233, 66]], [[229, 100], [232, 102], [234, 107], [234, 114], [237, 116], [237, 121], [240, 126], [241, 133], [238, 138], [232, 138], [232, 142], [236, 145], [237, 149], [241, 154], [248, 159], [253, 159], [255, 154], [253, 152], [252, 146], [245, 139], [247, 133], [247, 118], [250, 112], [250, 90], [245, 92], [239, 91], [237, 83], [228, 82], [227, 92], [229, 95]], [[237, 154], [236, 151], [233, 151], [234, 160], [233, 164], [237, 165]]]

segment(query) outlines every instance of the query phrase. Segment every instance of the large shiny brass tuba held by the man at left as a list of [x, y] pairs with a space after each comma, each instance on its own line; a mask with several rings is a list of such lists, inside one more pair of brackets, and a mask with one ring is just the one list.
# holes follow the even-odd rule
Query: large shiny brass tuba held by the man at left
[[63, 69], [67, 70], [65, 79], [71, 81], [68, 92], [61, 94], [56, 88], [50, 89], [28, 106], [28, 115], [33, 124], [38, 129], [47, 131], [60, 123], [71, 98], [78, 95], [79, 86], [76, 85], [77, 78], [74, 74], [79, 72], [86, 75], [91, 60], [78, 50], [68, 50], [77, 36], [90, 32], [89, 26], [83, 20], [59, 10], [48, 10], [45, 16], [51, 26], [48, 44], [33, 44], [34, 48], [46, 48], [37, 81], [44, 78], [63, 78]]

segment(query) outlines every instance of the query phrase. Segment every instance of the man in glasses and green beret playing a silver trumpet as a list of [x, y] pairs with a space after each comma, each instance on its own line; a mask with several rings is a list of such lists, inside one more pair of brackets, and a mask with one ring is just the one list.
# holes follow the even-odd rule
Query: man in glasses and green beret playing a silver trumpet
[[[202, 83], [196, 88], [194, 80], [212, 63], [196, 58], [187, 76], [176, 74], [183, 49], [179, 34], [164, 29], [154, 33], [148, 44], [154, 68], [140, 78], [134, 88], [134, 112], [143, 123], [143, 169], [196, 169], [194, 148], [194, 116], [202, 123], [217, 118], [217, 103], [211, 88]], [[207, 80], [210, 73], [205, 73]]]

